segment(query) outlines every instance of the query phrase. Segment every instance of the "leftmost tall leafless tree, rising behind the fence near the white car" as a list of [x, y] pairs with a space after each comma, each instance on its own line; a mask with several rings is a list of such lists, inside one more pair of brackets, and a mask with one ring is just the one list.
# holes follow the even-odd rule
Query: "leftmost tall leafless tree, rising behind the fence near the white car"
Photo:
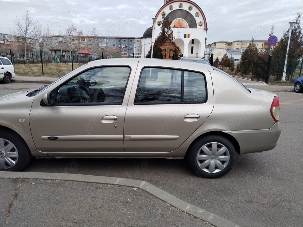
[[19, 46], [24, 50], [25, 57], [26, 51], [28, 50], [29, 46], [33, 46], [36, 41], [36, 33], [35, 30], [38, 28], [39, 23], [38, 21], [34, 21], [28, 13], [22, 17], [22, 19], [16, 17], [13, 20], [16, 30], [13, 30], [14, 35]]

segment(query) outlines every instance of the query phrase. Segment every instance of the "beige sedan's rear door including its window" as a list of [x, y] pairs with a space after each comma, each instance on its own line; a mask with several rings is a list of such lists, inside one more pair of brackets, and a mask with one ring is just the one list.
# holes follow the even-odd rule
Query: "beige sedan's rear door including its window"
[[125, 118], [126, 152], [173, 151], [213, 110], [208, 71], [142, 67], [135, 81]]

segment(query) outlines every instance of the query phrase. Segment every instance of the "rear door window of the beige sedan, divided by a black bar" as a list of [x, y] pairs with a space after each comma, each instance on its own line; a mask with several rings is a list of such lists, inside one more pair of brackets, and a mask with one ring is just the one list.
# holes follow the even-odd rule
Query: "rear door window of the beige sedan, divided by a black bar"
[[206, 102], [202, 73], [166, 68], [144, 68], [135, 104], [176, 104]]

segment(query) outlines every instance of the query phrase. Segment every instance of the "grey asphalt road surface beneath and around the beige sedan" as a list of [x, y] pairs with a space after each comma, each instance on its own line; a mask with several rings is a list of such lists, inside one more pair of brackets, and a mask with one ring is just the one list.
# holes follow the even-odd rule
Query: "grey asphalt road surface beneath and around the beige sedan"
[[[0, 96], [42, 85], [0, 84]], [[25, 171], [140, 179], [241, 226], [301, 226], [303, 94], [277, 94], [282, 127], [277, 147], [238, 156], [219, 179], [196, 177], [185, 160], [165, 159], [37, 159]]]

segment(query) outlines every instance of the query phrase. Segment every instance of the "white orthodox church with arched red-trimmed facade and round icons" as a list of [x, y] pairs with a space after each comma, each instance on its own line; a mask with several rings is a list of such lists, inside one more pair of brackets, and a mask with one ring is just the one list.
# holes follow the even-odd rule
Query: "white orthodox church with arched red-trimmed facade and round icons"
[[190, 0], [164, 0], [156, 13], [156, 21], [142, 36], [142, 58], [145, 58], [161, 31], [162, 16], [168, 17], [173, 30], [173, 40], [184, 57], [204, 57], [207, 23], [202, 9]]

